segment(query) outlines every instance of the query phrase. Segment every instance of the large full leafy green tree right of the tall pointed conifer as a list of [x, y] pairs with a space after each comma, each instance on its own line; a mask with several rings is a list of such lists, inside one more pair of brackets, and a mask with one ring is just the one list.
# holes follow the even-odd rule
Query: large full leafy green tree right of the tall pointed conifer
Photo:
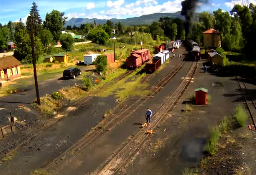
[[60, 39], [61, 30], [66, 19], [64, 12], [60, 13], [58, 10], [52, 10], [52, 12], [47, 13], [45, 16], [44, 28], [51, 31], [56, 42]]

